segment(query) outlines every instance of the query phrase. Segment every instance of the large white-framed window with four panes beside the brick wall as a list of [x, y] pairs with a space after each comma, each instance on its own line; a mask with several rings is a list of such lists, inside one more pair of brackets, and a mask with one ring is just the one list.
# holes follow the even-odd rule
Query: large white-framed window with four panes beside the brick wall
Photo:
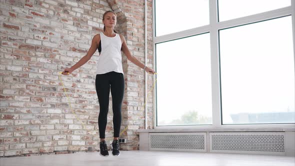
[[155, 125], [294, 125], [291, 5], [154, 0]]

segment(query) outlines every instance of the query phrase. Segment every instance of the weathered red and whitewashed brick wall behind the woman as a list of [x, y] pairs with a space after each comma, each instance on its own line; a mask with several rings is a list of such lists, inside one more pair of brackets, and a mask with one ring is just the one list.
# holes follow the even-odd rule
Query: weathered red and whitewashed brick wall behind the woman
[[[151, 0], [148, 5], [148, 65], [152, 66]], [[98, 52], [70, 76], [58, 71], [85, 55], [102, 30], [102, 14], [117, 13], [116, 31], [144, 62], [144, 0], [0, 0], [0, 156], [98, 150], [95, 91]], [[122, 149], [138, 149], [144, 128], [144, 71], [123, 55], [125, 93]], [[148, 88], [152, 86], [148, 76]], [[148, 125], [152, 126], [151, 95]], [[79, 119], [79, 120], [78, 120]], [[106, 138], [111, 141], [111, 96]]]

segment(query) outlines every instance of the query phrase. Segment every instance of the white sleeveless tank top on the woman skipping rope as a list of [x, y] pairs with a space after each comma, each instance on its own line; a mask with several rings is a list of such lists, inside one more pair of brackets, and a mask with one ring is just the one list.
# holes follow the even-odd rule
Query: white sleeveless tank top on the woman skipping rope
[[104, 74], [110, 71], [123, 73], [121, 38], [115, 33], [114, 37], [108, 37], [100, 32], [101, 52], [98, 56], [96, 74]]

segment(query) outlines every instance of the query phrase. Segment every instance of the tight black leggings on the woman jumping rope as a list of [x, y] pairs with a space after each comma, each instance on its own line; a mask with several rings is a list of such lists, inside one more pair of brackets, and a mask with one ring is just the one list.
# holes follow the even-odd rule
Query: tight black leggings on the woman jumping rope
[[99, 102], [98, 129], [99, 138], [105, 138], [109, 89], [112, 97], [113, 136], [119, 137], [121, 126], [121, 106], [124, 95], [124, 76], [115, 71], [97, 74], [95, 78], [96, 93]]

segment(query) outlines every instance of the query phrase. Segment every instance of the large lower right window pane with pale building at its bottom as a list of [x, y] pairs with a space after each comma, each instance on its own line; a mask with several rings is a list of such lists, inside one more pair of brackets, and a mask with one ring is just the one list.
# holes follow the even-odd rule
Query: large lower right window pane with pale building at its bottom
[[291, 16], [223, 29], [223, 124], [294, 123]]

